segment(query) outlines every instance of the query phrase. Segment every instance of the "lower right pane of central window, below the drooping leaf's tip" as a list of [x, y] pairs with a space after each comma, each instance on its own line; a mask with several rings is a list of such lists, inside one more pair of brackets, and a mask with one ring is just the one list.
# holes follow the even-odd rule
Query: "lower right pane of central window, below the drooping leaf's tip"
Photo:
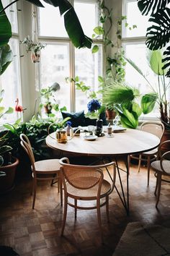
[[[91, 90], [99, 90], [98, 76], [102, 75], [102, 45], [99, 46], [99, 51], [96, 54], [91, 53], [91, 49], [81, 48], [75, 51], [75, 69], [76, 76], [85, 85], [90, 86]], [[76, 90], [76, 110], [87, 111], [86, 93], [81, 90]]]

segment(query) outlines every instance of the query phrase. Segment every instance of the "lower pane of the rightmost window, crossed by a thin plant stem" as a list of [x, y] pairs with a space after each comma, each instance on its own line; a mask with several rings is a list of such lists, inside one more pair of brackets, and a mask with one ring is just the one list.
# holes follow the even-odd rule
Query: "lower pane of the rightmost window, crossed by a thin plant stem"
[[[148, 67], [148, 62], [146, 59], [146, 45], [144, 43], [134, 43], [125, 45], [126, 56], [133, 60], [135, 64], [140, 68], [143, 74], [147, 77], [147, 80], [151, 83], [154, 90], [158, 91], [158, 78], [154, 74], [150, 67]], [[125, 80], [129, 85], [138, 88], [140, 94], [146, 94], [151, 91], [151, 87], [148, 85], [146, 80], [130, 65], [126, 64], [125, 66]], [[155, 116], [159, 117], [158, 106], [156, 106], [151, 113], [145, 116]]]

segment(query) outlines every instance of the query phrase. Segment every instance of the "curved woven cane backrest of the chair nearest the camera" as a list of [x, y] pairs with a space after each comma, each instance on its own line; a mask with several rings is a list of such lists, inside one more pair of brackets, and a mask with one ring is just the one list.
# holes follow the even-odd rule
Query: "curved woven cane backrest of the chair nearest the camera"
[[67, 182], [77, 189], [90, 189], [91, 187], [98, 185], [97, 194], [100, 195], [102, 181], [104, 179], [102, 168], [106, 168], [107, 166], [113, 166], [114, 177], [112, 189], [115, 187], [116, 170], [114, 162], [99, 166], [73, 165], [69, 163], [68, 158], [61, 158], [59, 162], [61, 164], [61, 175], [65, 189]]

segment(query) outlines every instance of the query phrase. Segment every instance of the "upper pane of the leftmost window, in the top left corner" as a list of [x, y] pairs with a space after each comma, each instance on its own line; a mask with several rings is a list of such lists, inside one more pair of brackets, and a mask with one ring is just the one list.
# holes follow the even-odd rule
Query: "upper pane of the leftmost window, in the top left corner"
[[[12, 2], [12, 0], [2, 0], [3, 7], [6, 7], [11, 2]], [[6, 16], [9, 19], [9, 22], [12, 25], [12, 32], [17, 33], [18, 32], [18, 27], [17, 27], [17, 5], [12, 4], [10, 7], [6, 8], [5, 12], [6, 12]]]

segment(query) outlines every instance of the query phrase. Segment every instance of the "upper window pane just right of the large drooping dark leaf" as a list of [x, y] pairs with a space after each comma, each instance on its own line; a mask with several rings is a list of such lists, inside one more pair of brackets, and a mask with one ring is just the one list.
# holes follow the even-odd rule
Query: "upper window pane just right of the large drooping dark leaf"
[[99, 25], [98, 4], [75, 2], [74, 8], [77, 16], [79, 17], [85, 35], [91, 37], [91, 35], [94, 33], [94, 27]]

